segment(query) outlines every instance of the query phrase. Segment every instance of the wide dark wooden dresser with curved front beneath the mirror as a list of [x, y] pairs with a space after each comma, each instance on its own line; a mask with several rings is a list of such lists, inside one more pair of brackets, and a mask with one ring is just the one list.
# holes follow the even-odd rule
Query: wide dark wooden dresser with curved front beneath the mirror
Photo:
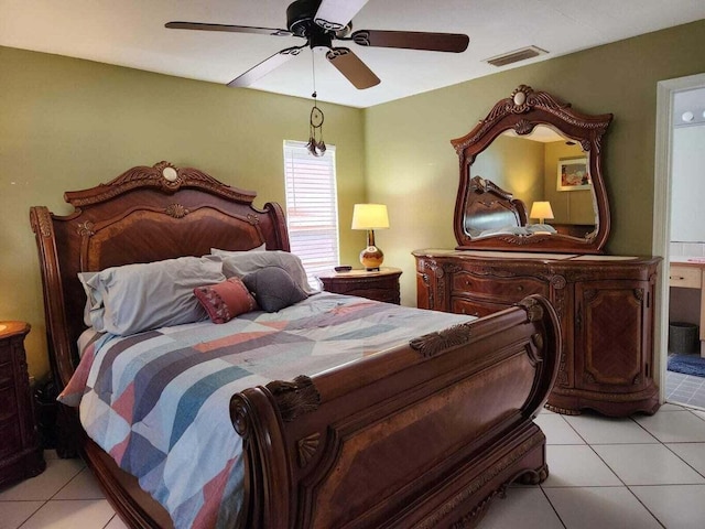
[[659, 408], [653, 381], [660, 258], [416, 250], [417, 305], [484, 316], [530, 294], [553, 303], [563, 335], [546, 407], [611, 417]]

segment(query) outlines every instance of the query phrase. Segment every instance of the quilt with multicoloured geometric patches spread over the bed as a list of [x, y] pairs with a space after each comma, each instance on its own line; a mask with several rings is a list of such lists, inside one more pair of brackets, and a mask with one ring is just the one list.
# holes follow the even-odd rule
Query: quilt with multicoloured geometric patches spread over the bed
[[59, 398], [176, 528], [234, 527], [242, 503], [241, 440], [230, 397], [291, 380], [471, 320], [322, 292], [275, 313], [132, 336], [100, 335]]

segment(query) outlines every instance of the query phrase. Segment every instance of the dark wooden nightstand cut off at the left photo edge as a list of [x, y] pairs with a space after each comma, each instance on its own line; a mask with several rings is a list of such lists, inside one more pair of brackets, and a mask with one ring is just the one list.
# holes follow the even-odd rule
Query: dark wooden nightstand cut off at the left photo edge
[[0, 487], [36, 476], [46, 467], [26, 370], [29, 332], [28, 323], [0, 322]]

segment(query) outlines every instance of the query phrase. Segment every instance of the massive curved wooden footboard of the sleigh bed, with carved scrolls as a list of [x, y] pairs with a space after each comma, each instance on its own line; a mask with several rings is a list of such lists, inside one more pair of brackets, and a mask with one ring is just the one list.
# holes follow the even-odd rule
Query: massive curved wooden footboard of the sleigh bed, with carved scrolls
[[532, 418], [561, 336], [541, 296], [313, 378], [231, 401], [247, 528], [473, 527], [517, 478], [547, 475]]

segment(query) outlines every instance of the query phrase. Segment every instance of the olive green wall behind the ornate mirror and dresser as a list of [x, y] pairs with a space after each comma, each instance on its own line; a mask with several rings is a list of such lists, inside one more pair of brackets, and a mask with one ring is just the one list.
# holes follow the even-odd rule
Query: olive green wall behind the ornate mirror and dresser
[[[471, 42], [470, 42], [470, 45]], [[657, 83], [705, 72], [705, 21], [518, 67], [366, 110], [368, 199], [387, 203], [384, 262], [403, 269], [402, 303], [415, 303], [410, 251], [455, 246], [458, 159], [449, 140], [471, 130], [521, 84], [584, 114], [615, 115], [605, 137], [611, 208], [607, 252], [651, 252]]]

